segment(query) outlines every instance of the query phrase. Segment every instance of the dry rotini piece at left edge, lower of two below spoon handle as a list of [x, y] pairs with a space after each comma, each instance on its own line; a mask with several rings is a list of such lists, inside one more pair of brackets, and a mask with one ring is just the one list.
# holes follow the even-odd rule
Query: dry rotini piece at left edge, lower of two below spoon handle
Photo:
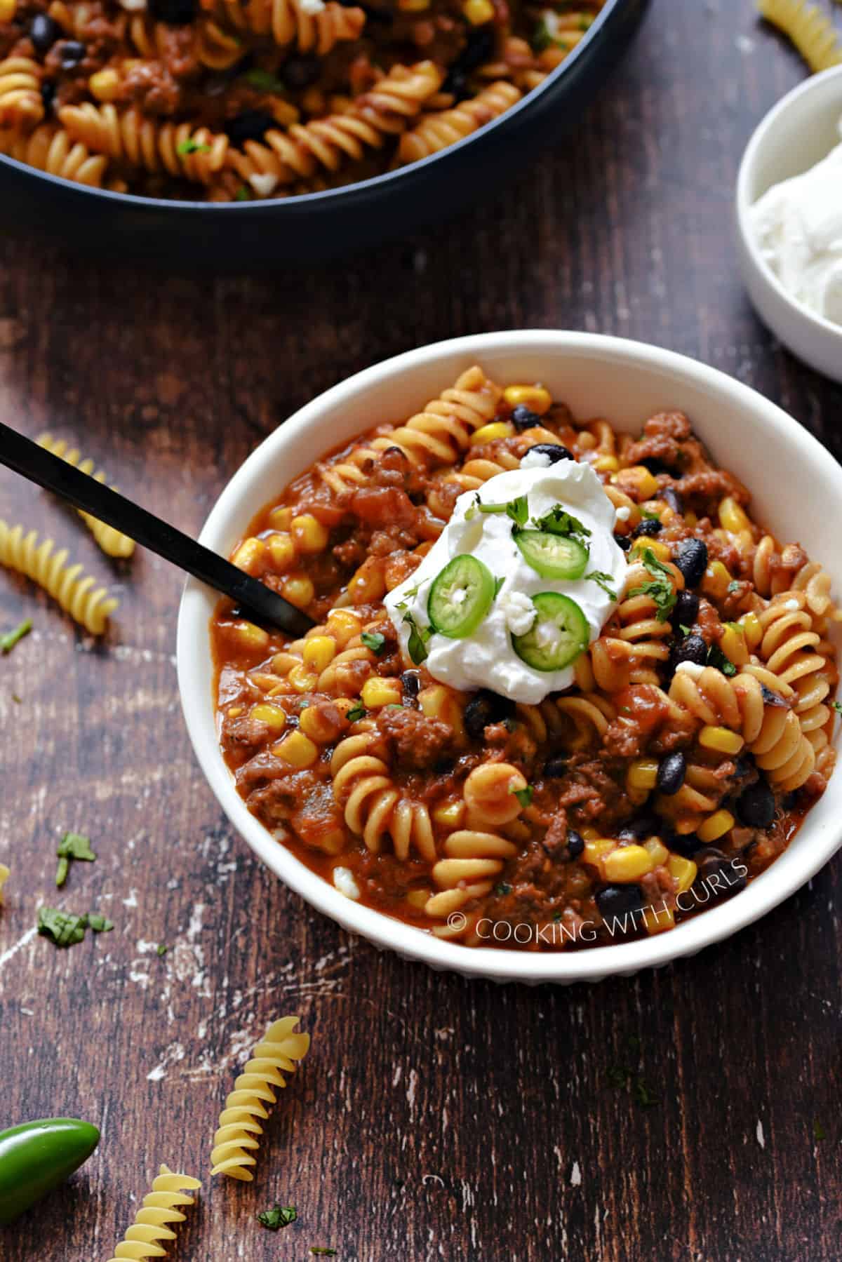
[[57, 601], [91, 635], [102, 635], [109, 617], [120, 603], [96, 579], [83, 575], [82, 565], [67, 564], [67, 549], [53, 551], [52, 539], [38, 543], [38, 531], [24, 534], [23, 526], [9, 526], [0, 519], [0, 565], [25, 574]]

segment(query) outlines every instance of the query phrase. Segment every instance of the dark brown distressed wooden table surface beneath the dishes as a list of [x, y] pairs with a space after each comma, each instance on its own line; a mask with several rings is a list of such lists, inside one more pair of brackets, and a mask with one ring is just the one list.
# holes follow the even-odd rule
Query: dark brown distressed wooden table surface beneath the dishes
[[[562, 326], [716, 365], [838, 456], [842, 392], [757, 323], [731, 240], [745, 141], [803, 74], [750, 0], [654, 0], [576, 135], [446, 231], [215, 279], [210, 261], [198, 278], [106, 268], [21, 228], [0, 244], [0, 416], [77, 439], [198, 531], [252, 447], [347, 374], [441, 337]], [[0, 1230], [5, 1262], [106, 1259], [159, 1162], [205, 1175], [237, 1065], [290, 1011], [313, 1047], [256, 1182], [208, 1182], [174, 1258], [842, 1256], [842, 863], [721, 946], [593, 987], [468, 983], [379, 954], [265, 871], [205, 784], [175, 687], [179, 574], [143, 554], [110, 570], [9, 473], [0, 516], [68, 541], [122, 602], [92, 646], [0, 575], [0, 625], [35, 623], [0, 661], [0, 1127], [102, 1128], [83, 1171]], [[57, 893], [66, 829], [98, 861]], [[116, 928], [56, 950], [34, 935], [42, 901]], [[624, 1066], [653, 1107], [614, 1085]], [[298, 1222], [271, 1234], [255, 1214], [275, 1200]]]

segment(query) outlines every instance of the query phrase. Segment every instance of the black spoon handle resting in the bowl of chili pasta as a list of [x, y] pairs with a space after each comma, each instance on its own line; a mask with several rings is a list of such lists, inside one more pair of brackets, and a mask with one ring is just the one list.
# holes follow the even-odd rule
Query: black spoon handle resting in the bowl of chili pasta
[[121, 530], [164, 560], [186, 569], [193, 578], [230, 596], [261, 621], [271, 622], [294, 636], [304, 635], [316, 626], [309, 615], [297, 610], [265, 583], [1, 422], [0, 464], [53, 491], [74, 509], [83, 509], [92, 517]]

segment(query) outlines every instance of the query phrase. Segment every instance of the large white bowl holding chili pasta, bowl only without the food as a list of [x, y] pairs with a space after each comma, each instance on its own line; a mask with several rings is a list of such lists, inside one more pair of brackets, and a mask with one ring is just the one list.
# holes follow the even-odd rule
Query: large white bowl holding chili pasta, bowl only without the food
[[[682, 355], [592, 333], [543, 329], [438, 342], [333, 386], [290, 416], [235, 473], [207, 520], [202, 543], [227, 555], [261, 505], [314, 459], [374, 424], [418, 411], [475, 362], [497, 381], [544, 381], [576, 415], [608, 416], [625, 430], [637, 432], [665, 408], [683, 409], [715, 458], [752, 488], [760, 522], [784, 540], [800, 540], [842, 591], [833, 511], [842, 504], [842, 469], [807, 430], [754, 390]], [[496, 981], [568, 983], [631, 974], [691, 955], [751, 924], [809, 880], [839, 844], [842, 775], [831, 780], [790, 847], [766, 872], [730, 902], [669, 933], [569, 954], [442, 941], [346, 899], [273, 840], [247, 811], [216, 734], [210, 641], [216, 601], [212, 591], [188, 582], [178, 622], [182, 704], [208, 784], [237, 832], [290, 888], [345, 929], [405, 958]]]

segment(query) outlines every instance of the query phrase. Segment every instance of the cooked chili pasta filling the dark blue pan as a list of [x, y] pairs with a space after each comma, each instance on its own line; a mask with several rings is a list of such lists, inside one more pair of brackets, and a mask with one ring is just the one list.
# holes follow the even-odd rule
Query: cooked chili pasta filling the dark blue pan
[[353, 183], [492, 122], [603, 3], [5, 0], [0, 153], [187, 199]]

